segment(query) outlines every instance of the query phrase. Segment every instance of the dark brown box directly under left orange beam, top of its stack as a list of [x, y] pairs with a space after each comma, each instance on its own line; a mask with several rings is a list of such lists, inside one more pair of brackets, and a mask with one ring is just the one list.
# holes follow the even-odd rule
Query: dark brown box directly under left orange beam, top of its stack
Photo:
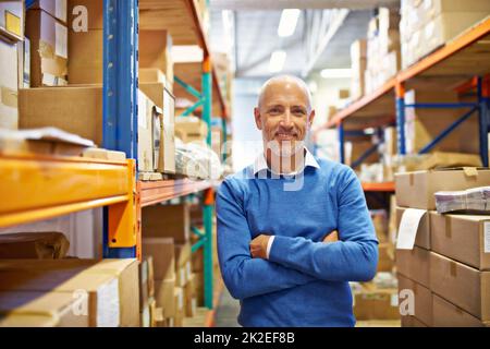
[[145, 237], [173, 238], [175, 243], [185, 243], [189, 238], [189, 206], [154, 205], [143, 209]]

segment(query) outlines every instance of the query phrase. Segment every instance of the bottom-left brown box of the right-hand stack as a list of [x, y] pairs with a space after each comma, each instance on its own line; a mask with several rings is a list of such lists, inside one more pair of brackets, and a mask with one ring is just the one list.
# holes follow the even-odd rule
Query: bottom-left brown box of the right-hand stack
[[[409, 278], [404, 277], [399, 274], [399, 296], [403, 290], [411, 290], [414, 292], [414, 313], [408, 315], [402, 315], [402, 322], [405, 317], [415, 316], [419, 321], [421, 321], [426, 326], [432, 326], [432, 293], [430, 290], [420, 284], [411, 280]], [[402, 294], [405, 298], [399, 299], [399, 302], [407, 300], [405, 294]]]

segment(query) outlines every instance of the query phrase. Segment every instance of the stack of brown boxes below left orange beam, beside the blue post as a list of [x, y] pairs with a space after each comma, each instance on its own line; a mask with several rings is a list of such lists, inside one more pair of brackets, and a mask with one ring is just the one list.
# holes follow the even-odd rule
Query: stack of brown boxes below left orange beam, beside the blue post
[[143, 255], [152, 257], [156, 306], [162, 309], [161, 326], [182, 326], [184, 317], [196, 313], [189, 229], [187, 204], [156, 205], [143, 210]]

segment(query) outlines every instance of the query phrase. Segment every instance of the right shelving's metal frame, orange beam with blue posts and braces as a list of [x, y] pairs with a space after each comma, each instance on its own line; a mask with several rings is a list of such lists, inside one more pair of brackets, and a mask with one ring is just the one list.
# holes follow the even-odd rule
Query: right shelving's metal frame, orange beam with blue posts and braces
[[[399, 154], [406, 154], [406, 140], [405, 140], [405, 111], [406, 108], [425, 108], [425, 109], [463, 109], [469, 108], [464, 115], [453, 123], [449, 124], [446, 129], [440, 132], [431, 142], [429, 142], [426, 146], [424, 146], [418, 153], [425, 154], [432, 149], [439, 142], [441, 142], [444, 137], [446, 137], [451, 132], [453, 132], [460, 124], [462, 124], [465, 120], [467, 120], [471, 115], [478, 112], [478, 124], [479, 124], [479, 151], [481, 156], [481, 163], [485, 167], [489, 166], [488, 158], [488, 132], [489, 123], [490, 123], [490, 77], [489, 70], [490, 65], [488, 61], [482, 62], [482, 67], [468, 67], [468, 74], [475, 71], [485, 71], [486, 73], [473, 75], [473, 77], [468, 76], [468, 82], [464, 84], [464, 86], [460, 86], [456, 88], [458, 93], [466, 92], [470, 88], [476, 88], [476, 101], [475, 103], [425, 103], [425, 104], [406, 104], [405, 103], [405, 85], [411, 83], [412, 80], [419, 77], [420, 75], [425, 76], [425, 74], [430, 70], [438, 69], [439, 72], [434, 74], [436, 79], [439, 75], [443, 75], [440, 72], [441, 65], [444, 67], [445, 62], [461, 52], [465, 52], [465, 50], [470, 50], [471, 45], [478, 43], [478, 40], [486, 40], [490, 36], [490, 19], [486, 19], [482, 22], [476, 24], [473, 28], [468, 29], [451, 43], [448, 43], [442, 48], [436, 50], [428, 57], [421, 59], [419, 62], [409, 67], [406, 70], [399, 72], [399, 74], [389, 80], [384, 85], [375, 91], [373, 93], [362, 97], [359, 100], [347, 106], [345, 109], [339, 111], [331, 121], [329, 121], [322, 129], [324, 128], [338, 128], [339, 131], [339, 143], [340, 143], [340, 160], [341, 163], [345, 163], [345, 122], [350, 120], [356, 113], [359, 113], [364, 108], [369, 106], [376, 106], [376, 104], [380, 103], [382, 98], [385, 98], [389, 94], [394, 93], [394, 116], [395, 116], [395, 124], [396, 124], [396, 134], [397, 134], [397, 146]], [[481, 56], [481, 53], [479, 53]], [[448, 68], [443, 68], [446, 71], [451, 70], [451, 64], [446, 64]], [[471, 65], [471, 64], [469, 64]], [[446, 73], [448, 76], [451, 75], [451, 71]], [[460, 72], [454, 75], [461, 74]], [[358, 119], [362, 119], [360, 117]], [[387, 122], [389, 123], [389, 122]], [[366, 125], [372, 127], [371, 124]], [[320, 129], [321, 130], [321, 129]], [[318, 131], [317, 131], [318, 132]], [[359, 159], [356, 159], [355, 164], [358, 166], [363, 159], [365, 159], [369, 154], [369, 149], [366, 154], [362, 155]]]

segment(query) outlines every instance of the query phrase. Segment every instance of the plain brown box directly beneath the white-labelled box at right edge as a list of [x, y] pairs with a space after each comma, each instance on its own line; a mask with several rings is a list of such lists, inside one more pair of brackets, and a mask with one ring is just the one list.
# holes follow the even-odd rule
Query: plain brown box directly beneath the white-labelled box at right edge
[[490, 272], [430, 253], [432, 292], [481, 321], [490, 321]]

